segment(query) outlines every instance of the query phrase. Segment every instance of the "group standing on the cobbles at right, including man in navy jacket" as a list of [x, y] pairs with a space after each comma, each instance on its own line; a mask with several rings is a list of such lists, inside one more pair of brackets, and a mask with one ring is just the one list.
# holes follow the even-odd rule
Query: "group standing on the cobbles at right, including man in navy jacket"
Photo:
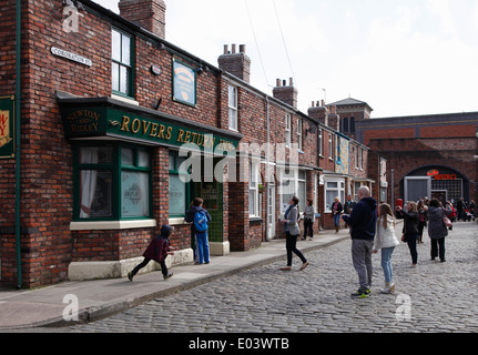
[[372, 254], [382, 250], [382, 267], [385, 275], [385, 287], [382, 293], [395, 292], [393, 280], [391, 255], [399, 240], [396, 235], [396, 219], [404, 220], [401, 241], [408, 244], [411, 265], [416, 267], [418, 263], [417, 243], [421, 242], [424, 225], [428, 223], [428, 236], [431, 240], [431, 260], [437, 257], [444, 263], [445, 239], [448, 235], [449, 221], [446, 221], [452, 213], [452, 209], [446, 207], [434, 199], [428, 205], [424, 202], [407, 202], [406, 211], [401, 206], [396, 206], [395, 213], [387, 203], [378, 206], [377, 202], [370, 197], [368, 187], [360, 187], [358, 191], [360, 200], [352, 211], [350, 215], [343, 215], [343, 220], [350, 227], [353, 241], [352, 255], [354, 267], [358, 273], [359, 288], [353, 294], [355, 297], [367, 297], [372, 286]]

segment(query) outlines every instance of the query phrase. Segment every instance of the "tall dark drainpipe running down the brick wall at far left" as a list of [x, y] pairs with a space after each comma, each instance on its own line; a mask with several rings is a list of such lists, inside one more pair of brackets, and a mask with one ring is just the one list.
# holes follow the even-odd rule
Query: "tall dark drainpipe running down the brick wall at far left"
[[14, 100], [14, 130], [16, 130], [16, 244], [17, 244], [17, 288], [22, 287], [21, 278], [21, 229], [20, 229], [20, 164], [21, 164], [21, 1], [17, 0], [17, 16], [16, 16], [16, 100]]

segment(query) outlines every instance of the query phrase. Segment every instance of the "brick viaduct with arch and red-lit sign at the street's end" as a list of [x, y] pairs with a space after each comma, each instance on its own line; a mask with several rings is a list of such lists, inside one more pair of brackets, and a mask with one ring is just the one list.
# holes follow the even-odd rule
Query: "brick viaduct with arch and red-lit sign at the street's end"
[[340, 132], [387, 161], [384, 172], [394, 189], [383, 191], [383, 200], [477, 201], [478, 112], [370, 119], [366, 102], [346, 99], [334, 104], [342, 119]]

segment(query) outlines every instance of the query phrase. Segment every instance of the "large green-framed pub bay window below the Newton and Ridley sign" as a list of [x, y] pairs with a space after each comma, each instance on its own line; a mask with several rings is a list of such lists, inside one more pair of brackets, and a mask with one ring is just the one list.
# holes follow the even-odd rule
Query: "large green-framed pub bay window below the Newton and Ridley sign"
[[151, 158], [125, 145], [78, 146], [75, 150], [77, 221], [151, 217]]

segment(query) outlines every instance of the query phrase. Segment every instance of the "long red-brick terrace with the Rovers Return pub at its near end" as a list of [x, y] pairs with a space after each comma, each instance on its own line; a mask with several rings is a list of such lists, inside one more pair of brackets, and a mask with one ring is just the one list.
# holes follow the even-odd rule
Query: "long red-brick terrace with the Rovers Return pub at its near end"
[[[334, 108], [299, 112], [292, 80], [272, 97], [253, 88], [245, 45], [225, 45], [217, 68], [167, 42], [162, 0], [119, 7], [22, 1], [20, 150], [3, 154], [0, 138], [1, 283], [125, 276], [165, 223], [181, 250], [171, 263], [192, 263], [195, 196], [224, 255], [283, 237], [277, 216], [294, 194], [302, 211], [313, 200], [317, 231], [333, 196], [372, 186], [369, 149], [338, 132]], [[14, 1], [0, 8], [0, 109], [12, 126]]]

